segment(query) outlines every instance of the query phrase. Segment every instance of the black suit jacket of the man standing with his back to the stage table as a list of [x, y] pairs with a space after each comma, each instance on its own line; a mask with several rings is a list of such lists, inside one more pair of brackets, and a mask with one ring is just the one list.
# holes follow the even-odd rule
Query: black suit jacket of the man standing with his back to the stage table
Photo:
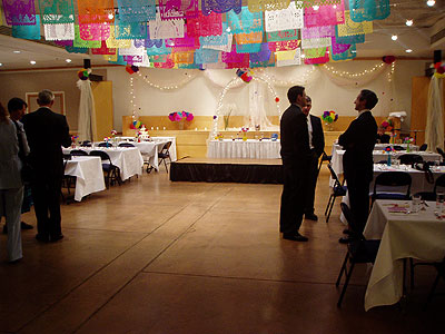
[[300, 107], [290, 105], [281, 116], [279, 128], [283, 164], [307, 167], [310, 158], [309, 132]]

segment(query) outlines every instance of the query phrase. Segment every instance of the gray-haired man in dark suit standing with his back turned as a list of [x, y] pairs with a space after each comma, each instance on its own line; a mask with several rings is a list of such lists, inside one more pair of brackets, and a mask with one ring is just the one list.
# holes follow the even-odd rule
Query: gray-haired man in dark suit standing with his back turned
[[37, 102], [40, 108], [22, 118], [31, 149], [29, 163], [34, 170], [31, 189], [37, 217], [36, 238], [40, 242], [57, 242], [63, 237], [59, 203], [63, 176], [61, 147], [69, 147], [71, 137], [67, 118], [51, 111], [55, 102], [52, 91], [40, 91]]

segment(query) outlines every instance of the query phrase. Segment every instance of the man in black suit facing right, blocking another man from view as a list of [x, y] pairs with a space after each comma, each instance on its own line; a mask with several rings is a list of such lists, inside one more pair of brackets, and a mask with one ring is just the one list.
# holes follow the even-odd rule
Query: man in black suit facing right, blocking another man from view
[[308, 238], [298, 232], [305, 210], [305, 193], [310, 161], [306, 115], [301, 111], [306, 105], [305, 88], [290, 87], [287, 98], [290, 107], [286, 109], [280, 120], [284, 187], [279, 230], [283, 233], [284, 239], [307, 242]]

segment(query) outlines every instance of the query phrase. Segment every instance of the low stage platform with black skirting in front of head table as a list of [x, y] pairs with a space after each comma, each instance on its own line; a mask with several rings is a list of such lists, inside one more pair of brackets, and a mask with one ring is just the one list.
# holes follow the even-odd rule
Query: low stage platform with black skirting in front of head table
[[281, 159], [182, 158], [170, 165], [171, 181], [283, 184]]

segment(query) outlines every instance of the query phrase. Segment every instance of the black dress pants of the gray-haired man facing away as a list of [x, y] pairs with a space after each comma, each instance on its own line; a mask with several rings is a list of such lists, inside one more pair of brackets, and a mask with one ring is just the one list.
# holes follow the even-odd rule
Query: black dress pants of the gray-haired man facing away
[[37, 233], [42, 237], [61, 235], [60, 175], [38, 175], [31, 184], [37, 217]]

